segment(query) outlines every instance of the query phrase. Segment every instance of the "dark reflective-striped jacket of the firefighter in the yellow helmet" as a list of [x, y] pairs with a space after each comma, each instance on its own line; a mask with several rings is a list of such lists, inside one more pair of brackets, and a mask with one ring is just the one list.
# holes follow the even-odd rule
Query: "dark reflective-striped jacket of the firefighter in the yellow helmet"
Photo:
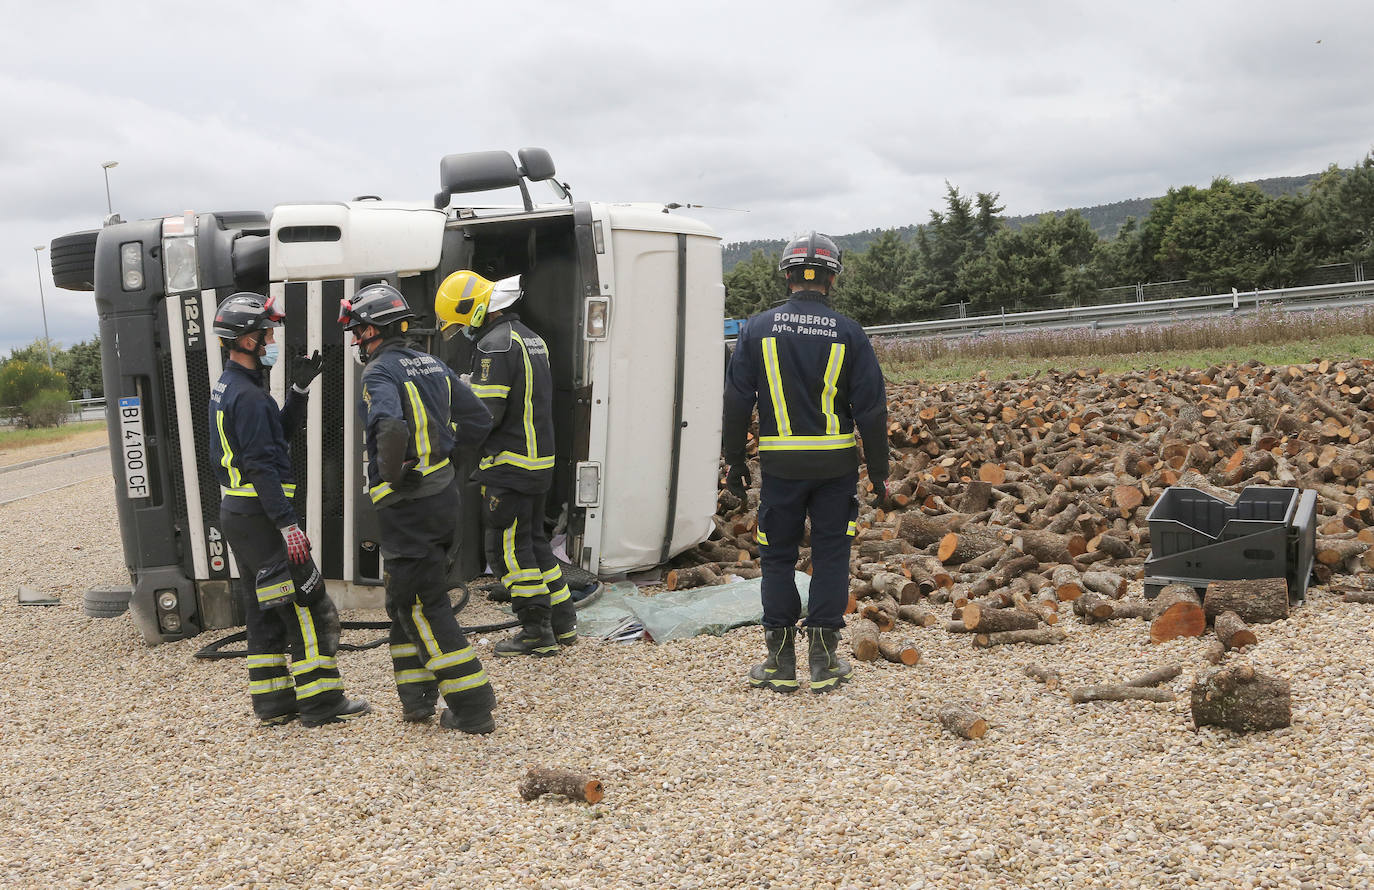
[[554, 376], [548, 346], [510, 309], [488, 324], [473, 353], [473, 391], [492, 433], [473, 478], [526, 494], [554, 482]]

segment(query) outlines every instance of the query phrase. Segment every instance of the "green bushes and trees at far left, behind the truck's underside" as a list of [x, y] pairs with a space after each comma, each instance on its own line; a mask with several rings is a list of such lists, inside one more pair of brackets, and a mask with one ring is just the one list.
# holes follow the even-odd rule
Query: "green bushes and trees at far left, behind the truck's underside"
[[100, 338], [82, 341], [70, 349], [36, 339], [0, 358], [0, 411], [7, 411], [27, 427], [56, 426], [67, 416], [67, 400], [89, 391], [104, 394], [100, 376]]

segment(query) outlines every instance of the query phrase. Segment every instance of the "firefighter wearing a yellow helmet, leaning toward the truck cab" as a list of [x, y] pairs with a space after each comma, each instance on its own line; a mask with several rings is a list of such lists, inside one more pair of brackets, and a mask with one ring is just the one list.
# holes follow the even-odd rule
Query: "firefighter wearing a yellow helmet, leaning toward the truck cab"
[[577, 607], [548, 544], [544, 508], [554, 481], [554, 379], [548, 347], [511, 306], [519, 276], [488, 282], [455, 272], [434, 297], [445, 336], [475, 341], [473, 391], [492, 412], [492, 433], [473, 478], [482, 485], [486, 556], [502, 567], [502, 584], [521, 629], [502, 640], [497, 655], [558, 655], [577, 641]]

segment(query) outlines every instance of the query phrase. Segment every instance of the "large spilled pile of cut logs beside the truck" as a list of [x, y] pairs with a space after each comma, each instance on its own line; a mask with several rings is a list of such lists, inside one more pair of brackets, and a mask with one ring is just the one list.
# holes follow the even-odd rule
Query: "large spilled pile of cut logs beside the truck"
[[[1312, 489], [1318, 582], [1374, 569], [1374, 361], [889, 386], [888, 437], [892, 499], [861, 500], [852, 551], [860, 661], [919, 661], [888, 639], [899, 622], [943, 622], [977, 647], [1059, 643], [1063, 603], [1085, 624], [1147, 618], [1156, 641], [1210, 621], [1220, 652], [1253, 646], [1248, 624], [1287, 614], [1282, 580], [1209, 591], [1205, 608], [1190, 588], [1123, 599], [1171, 485], [1228, 503], [1248, 485]], [[750, 470], [758, 479], [753, 456]], [[717, 505], [716, 533], [675, 560], [671, 589], [757, 575], [757, 489], [721, 490]], [[800, 555], [809, 570], [807, 540]]]

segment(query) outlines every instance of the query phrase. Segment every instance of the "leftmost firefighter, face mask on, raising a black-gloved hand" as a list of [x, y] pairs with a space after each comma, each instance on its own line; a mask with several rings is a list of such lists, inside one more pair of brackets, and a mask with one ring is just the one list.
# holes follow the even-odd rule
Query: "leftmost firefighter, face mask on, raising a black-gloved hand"
[[317, 727], [361, 717], [371, 707], [344, 695], [334, 657], [339, 619], [311, 559], [311, 541], [291, 507], [295, 483], [287, 438], [305, 419], [308, 386], [320, 353], [300, 363], [286, 405], [264, 389], [262, 368], [278, 358], [273, 328], [283, 315], [257, 294], [234, 294], [214, 315], [227, 350], [210, 394], [210, 456], [220, 481], [220, 522], [253, 584], [245, 597], [249, 692], [264, 725], [300, 716]]

